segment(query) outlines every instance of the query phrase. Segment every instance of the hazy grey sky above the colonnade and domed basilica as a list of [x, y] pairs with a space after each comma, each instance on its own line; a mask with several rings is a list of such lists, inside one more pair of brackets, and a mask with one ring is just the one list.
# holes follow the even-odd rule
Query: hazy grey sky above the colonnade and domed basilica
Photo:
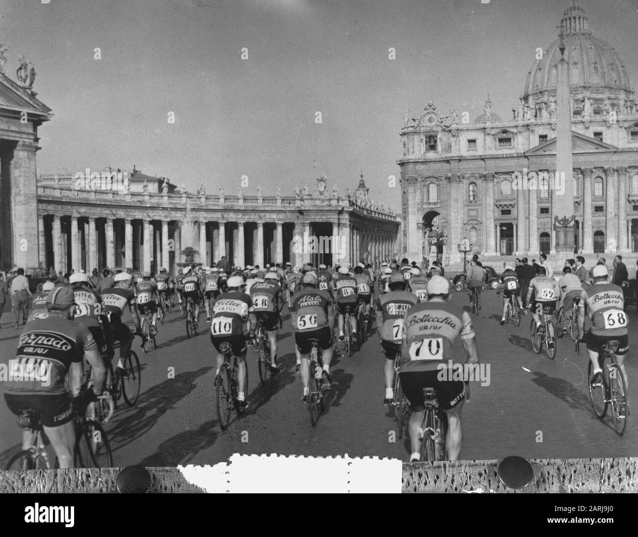
[[[355, 188], [400, 209], [399, 129], [433, 101], [509, 117], [570, 0], [0, 0], [5, 72], [54, 117], [38, 173], [105, 166], [190, 191]], [[486, 1], [486, 0], [483, 0]], [[638, 0], [578, 0], [638, 80]], [[396, 59], [389, 59], [389, 48]], [[101, 59], [95, 49], [100, 48]], [[242, 49], [248, 59], [242, 59]], [[244, 52], [245, 55], [245, 52]], [[169, 113], [175, 122], [168, 121]], [[316, 112], [322, 122], [316, 123]]]

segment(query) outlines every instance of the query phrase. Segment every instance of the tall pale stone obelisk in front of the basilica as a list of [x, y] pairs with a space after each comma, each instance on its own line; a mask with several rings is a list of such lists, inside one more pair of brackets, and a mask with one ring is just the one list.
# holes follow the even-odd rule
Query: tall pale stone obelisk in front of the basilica
[[[561, 57], [556, 64], [556, 175], [554, 175], [553, 182], [550, 180], [550, 188], [554, 188], [555, 248], [559, 265], [562, 264], [565, 258], [570, 258], [574, 255], [575, 247], [572, 107], [569, 64], [565, 59], [563, 30], [564, 28], [561, 28], [559, 47]], [[557, 188], [560, 188], [560, 190]]]

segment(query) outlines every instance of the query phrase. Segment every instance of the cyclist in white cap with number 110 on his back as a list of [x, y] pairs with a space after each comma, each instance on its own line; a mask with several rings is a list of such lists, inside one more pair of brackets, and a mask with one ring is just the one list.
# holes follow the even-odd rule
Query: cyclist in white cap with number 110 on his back
[[[231, 276], [227, 281], [228, 290], [220, 293], [212, 304], [211, 341], [217, 350], [217, 372], [224, 362], [220, 351], [221, 343], [227, 341], [237, 358], [238, 390], [243, 390], [246, 381], [246, 338], [249, 334], [248, 314], [252, 311], [250, 295], [244, 292], [241, 276]], [[237, 401], [246, 405], [246, 394], [237, 392]]]

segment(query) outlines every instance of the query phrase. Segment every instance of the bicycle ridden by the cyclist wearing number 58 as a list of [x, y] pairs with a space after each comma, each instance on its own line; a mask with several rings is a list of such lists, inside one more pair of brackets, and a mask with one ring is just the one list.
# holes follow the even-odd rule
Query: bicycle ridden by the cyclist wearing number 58
[[[576, 352], [581, 355], [579, 349], [580, 341], [576, 341]], [[588, 383], [590, 385], [590, 401], [594, 413], [599, 420], [603, 420], [607, 415], [607, 409], [611, 404], [611, 415], [614, 422], [614, 429], [619, 436], [623, 436], [627, 428], [627, 416], [629, 415], [629, 402], [623, 372], [616, 364], [616, 351], [620, 341], [610, 339], [598, 348], [598, 365], [602, 368], [603, 382], [591, 384], [593, 379], [593, 366], [590, 365], [587, 372]], [[582, 356], [582, 355], [581, 355]]]

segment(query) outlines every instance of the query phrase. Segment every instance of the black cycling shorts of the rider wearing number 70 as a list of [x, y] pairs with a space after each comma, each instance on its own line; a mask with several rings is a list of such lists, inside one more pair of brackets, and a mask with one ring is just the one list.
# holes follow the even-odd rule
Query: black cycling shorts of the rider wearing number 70
[[459, 406], [465, 399], [465, 383], [460, 380], [439, 380], [439, 371], [406, 371], [399, 373], [401, 389], [412, 409], [422, 411], [426, 406], [423, 388], [434, 388], [436, 399], [443, 410]]

